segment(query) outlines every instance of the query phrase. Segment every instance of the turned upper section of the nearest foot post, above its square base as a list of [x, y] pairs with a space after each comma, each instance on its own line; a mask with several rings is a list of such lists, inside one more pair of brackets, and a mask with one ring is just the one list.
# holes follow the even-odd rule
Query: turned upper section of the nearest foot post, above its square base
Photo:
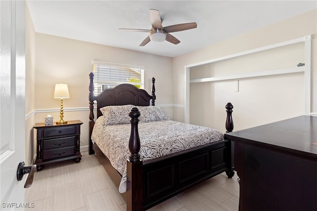
[[131, 117], [131, 135], [130, 135], [130, 141], [129, 141], [129, 150], [130, 150], [130, 156], [129, 160], [130, 162], [138, 162], [141, 158], [140, 156], [140, 137], [139, 137], [139, 130], [138, 130], [138, 123], [139, 123], [139, 116], [140, 111], [138, 108], [133, 107], [130, 112], [129, 116]]

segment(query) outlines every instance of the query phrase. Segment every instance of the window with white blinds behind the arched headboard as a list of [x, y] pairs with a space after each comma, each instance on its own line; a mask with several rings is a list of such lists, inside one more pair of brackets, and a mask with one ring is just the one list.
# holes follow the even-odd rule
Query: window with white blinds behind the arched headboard
[[128, 83], [143, 89], [144, 69], [121, 64], [109, 64], [102, 61], [93, 61], [94, 95], [99, 95], [103, 90], [116, 85]]

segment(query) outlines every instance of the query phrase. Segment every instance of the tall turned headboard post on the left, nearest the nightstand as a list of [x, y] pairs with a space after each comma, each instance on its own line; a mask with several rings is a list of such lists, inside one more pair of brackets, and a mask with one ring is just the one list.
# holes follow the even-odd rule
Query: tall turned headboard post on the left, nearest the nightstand
[[93, 128], [95, 125], [95, 121], [94, 121], [94, 100], [95, 100], [95, 96], [94, 96], [94, 73], [90, 73], [89, 74], [89, 79], [90, 79], [90, 83], [89, 83], [89, 155], [93, 155], [95, 154], [95, 151], [93, 150], [93, 142], [91, 141], [91, 134], [93, 132]]

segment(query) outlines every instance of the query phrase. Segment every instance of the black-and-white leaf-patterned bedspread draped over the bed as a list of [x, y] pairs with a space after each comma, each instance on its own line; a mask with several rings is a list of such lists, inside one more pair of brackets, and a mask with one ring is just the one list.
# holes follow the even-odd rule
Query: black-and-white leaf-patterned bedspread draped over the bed
[[[104, 125], [103, 117], [97, 119], [91, 138], [109, 158], [112, 166], [121, 173], [119, 192], [124, 193], [131, 124]], [[172, 120], [140, 122], [138, 128], [142, 160], [159, 158], [223, 140], [223, 134], [215, 129]]]

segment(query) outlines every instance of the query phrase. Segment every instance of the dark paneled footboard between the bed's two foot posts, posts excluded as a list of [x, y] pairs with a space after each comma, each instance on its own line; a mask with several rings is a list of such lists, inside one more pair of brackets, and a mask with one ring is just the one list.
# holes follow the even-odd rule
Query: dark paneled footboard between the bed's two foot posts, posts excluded
[[143, 210], [224, 171], [231, 170], [230, 141], [224, 140], [143, 162]]

